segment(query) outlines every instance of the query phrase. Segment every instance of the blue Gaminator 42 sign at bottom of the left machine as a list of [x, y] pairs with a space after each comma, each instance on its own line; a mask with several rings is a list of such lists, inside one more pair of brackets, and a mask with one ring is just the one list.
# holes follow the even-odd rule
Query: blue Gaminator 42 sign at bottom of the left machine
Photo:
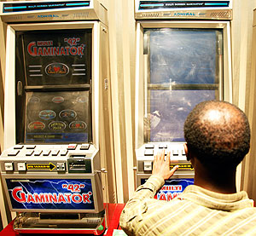
[[94, 210], [90, 179], [6, 179], [13, 209]]

